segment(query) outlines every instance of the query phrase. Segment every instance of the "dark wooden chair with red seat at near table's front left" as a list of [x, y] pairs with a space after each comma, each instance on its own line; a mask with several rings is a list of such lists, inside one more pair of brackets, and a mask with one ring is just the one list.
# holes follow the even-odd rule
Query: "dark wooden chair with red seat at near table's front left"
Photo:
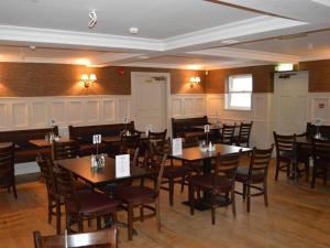
[[78, 224], [78, 231], [82, 231], [84, 220], [91, 219], [97, 219], [97, 228], [100, 229], [102, 217], [112, 216], [117, 220], [120, 201], [96, 191], [76, 191], [72, 173], [61, 168], [54, 170], [54, 175], [58, 193], [64, 197], [66, 229], [70, 230], [72, 225]]

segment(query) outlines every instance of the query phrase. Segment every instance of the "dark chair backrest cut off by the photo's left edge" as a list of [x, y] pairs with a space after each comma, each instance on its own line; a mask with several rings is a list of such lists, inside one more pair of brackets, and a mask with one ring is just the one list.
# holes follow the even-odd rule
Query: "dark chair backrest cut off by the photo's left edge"
[[0, 180], [12, 176], [14, 176], [14, 144], [9, 142], [0, 144]]

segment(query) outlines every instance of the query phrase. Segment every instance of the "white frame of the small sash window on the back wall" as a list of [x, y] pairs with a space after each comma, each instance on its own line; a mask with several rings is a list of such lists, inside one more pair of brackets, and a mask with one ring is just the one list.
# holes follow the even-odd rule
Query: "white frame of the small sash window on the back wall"
[[[251, 90], [230, 90], [230, 86], [234, 78], [239, 77], [251, 77], [252, 79], [252, 88]], [[250, 94], [250, 107], [243, 107], [243, 106], [231, 106], [231, 94]], [[237, 75], [230, 75], [227, 78], [226, 83], [226, 110], [244, 110], [244, 111], [251, 111], [252, 110], [252, 94], [253, 94], [253, 75], [252, 74], [237, 74]]]

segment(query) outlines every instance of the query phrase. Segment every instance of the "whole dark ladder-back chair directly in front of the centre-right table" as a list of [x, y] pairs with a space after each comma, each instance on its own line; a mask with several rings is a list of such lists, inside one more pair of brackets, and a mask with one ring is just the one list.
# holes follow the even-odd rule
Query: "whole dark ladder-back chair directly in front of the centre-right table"
[[226, 205], [231, 204], [232, 213], [235, 216], [235, 174], [239, 166], [241, 151], [237, 154], [217, 157], [215, 172], [211, 174], [194, 175], [189, 181], [189, 205], [190, 214], [194, 215], [195, 191], [209, 192], [211, 194], [210, 207], [212, 216], [212, 225], [216, 223], [216, 208], [219, 206], [217, 196], [221, 195], [226, 198]]

